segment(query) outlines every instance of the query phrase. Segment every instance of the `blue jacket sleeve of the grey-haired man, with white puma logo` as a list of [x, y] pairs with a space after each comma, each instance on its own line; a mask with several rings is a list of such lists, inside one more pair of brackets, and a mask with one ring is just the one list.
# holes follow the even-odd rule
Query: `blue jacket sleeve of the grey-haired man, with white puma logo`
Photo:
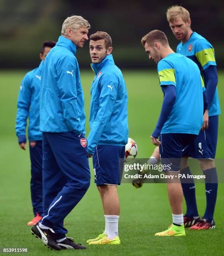
[[76, 60], [70, 56], [61, 59], [57, 66], [58, 89], [65, 122], [70, 131], [80, 129], [79, 109], [77, 105], [76, 73], [78, 72]]

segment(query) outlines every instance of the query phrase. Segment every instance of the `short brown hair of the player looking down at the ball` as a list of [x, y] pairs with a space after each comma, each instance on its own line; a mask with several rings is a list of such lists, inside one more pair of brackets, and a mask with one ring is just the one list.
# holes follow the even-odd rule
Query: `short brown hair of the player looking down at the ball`
[[141, 38], [141, 44], [143, 46], [145, 46], [146, 42], [151, 45], [154, 44], [156, 41], [159, 41], [164, 46], [169, 45], [165, 33], [157, 29], [150, 31], [148, 34], [143, 36], [143, 38]]

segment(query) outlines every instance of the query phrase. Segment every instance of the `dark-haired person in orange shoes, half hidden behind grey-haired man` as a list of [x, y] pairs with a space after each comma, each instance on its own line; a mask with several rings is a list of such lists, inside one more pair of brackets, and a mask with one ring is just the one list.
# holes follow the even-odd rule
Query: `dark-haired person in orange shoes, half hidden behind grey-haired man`
[[55, 41], [45, 41], [40, 53], [39, 67], [28, 72], [20, 85], [18, 96], [18, 111], [16, 117], [16, 136], [20, 148], [26, 150], [26, 126], [29, 118], [28, 139], [30, 146], [31, 162], [31, 201], [34, 218], [27, 225], [34, 225], [41, 219], [43, 213], [42, 200], [42, 133], [40, 132], [40, 83], [43, 69], [43, 61]]

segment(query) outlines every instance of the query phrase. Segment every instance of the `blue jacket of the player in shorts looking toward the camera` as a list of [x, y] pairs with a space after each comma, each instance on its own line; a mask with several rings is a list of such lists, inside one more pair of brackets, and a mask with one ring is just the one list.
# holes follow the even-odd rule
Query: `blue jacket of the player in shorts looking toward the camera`
[[128, 96], [121, 70], [111, 54], [91, 67], [96, 76], [91, 85], [89, 154], [96, 145], [124, 146], [128, 142]]

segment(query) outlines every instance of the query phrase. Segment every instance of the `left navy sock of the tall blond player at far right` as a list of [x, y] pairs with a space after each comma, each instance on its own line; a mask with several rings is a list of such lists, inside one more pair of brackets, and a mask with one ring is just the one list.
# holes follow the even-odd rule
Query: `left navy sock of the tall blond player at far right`
[[187, 178], [187, 174], [191, 175], [189, 166], [181, 170], [181, 174], [185, 174], [186, 178], [181, 178], [181, 186], [186, 201], [186, 216], [189, 218], [197, 217], [198, 209], [195, 196], [195, 184], [193, 178]]

